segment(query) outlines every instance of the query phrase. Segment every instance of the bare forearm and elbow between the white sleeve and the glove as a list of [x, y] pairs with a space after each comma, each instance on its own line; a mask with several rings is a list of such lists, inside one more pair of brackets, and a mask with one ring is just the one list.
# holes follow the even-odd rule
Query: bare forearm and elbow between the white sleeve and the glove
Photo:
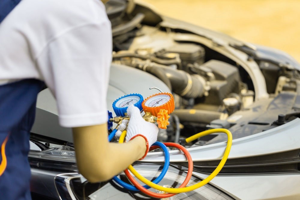
[[124, 144], [109, 143], [106, 126], [73, 128], [79, 172], [91, 182], [112, 178], [143, 157], [146, 151], [142, 137]]

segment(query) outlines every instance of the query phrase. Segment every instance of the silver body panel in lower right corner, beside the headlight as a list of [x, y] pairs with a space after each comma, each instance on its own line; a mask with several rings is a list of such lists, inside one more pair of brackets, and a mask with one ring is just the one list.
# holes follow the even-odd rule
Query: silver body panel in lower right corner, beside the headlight
[[[204, 179], [208, 175], [194, 172]], [[218, 175], [210, 184], [235, 199], [300, 199], [300, 174]]]

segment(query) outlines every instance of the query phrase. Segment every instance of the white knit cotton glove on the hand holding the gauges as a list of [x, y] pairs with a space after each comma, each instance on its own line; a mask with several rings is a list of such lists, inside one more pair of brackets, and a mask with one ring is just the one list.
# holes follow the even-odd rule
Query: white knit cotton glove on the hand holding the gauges
[[[130, 119], [127, 127], [126, 141], [128, 142], [134, 136], [141, 134], [147, 138], [150, 148], [157, 140], [158, 127], [151, 122], [145, 121], [141, 116], [140, 110], [134, 105], [130, 105], [127, 108], [127, 115]], [[146, 152], [149, 151], [149, 148]]]

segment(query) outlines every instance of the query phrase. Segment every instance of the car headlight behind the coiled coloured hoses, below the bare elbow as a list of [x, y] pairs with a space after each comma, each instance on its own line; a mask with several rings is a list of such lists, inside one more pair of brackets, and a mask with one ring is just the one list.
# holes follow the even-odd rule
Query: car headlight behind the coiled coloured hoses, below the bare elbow
[[[134, 165], [135, 169], [149, 180], [156, 178], [163, 168], [160, 164], [138, 163]], [[179, 187], [184, 181], [186, 173], [173, 166], [170, 166], [164, 179], [159, 183], [164, 187]], [[125, 182], [129, 182], [124, 173], [119, 175]], [[196, 177], [192, 177], [187, 186], [198, 183]], [[140, 182], [140, 181], [139, 181]], [[141, 183], [141, 182], [140, 182]], [[143, 184], [143, 183], [141, 183]], [[101, 183], [89, 183], [80, 174], [62, 174], [55, 177], [55, 186], [61, 199], [93, 199], [93, 200], [125, 200], [125, 199], [149, 199], [143, 193], [131, 193], [122, 187], [119, 187], [112, 180]], [[160, 193], [155, 189], [150, 189], [153, 192]], [[155, 199], [155, 198], [152, 198]], [[196, 190], [188, 193], [180, 193], [171, 197], [173, 200], [177, 199], [232, 199], [222, 191], [206, 184]]]

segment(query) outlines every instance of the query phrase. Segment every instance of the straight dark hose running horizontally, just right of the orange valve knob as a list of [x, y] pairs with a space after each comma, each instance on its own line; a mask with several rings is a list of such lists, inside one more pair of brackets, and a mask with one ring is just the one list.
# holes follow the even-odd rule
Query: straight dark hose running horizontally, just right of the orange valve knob
[[172, 114], [177, 115], [180, 122], [201, 122], [205, 124], [209, 124], [215, 119], [226, 119], [228, 116], [223, 112], [196, 109], [175, 109]]

